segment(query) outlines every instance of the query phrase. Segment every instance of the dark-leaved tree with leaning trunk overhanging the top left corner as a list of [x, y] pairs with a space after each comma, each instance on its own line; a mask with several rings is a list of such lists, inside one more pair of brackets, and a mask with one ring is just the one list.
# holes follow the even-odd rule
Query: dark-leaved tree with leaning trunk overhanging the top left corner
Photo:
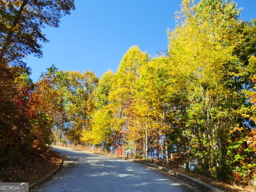
[[74, 10], [74, 0], [0, 0], [0, 68], [22, 65], [29, 54], [42, 56], [39, 42], [48, 42], [41, 29], [58, 27]]

